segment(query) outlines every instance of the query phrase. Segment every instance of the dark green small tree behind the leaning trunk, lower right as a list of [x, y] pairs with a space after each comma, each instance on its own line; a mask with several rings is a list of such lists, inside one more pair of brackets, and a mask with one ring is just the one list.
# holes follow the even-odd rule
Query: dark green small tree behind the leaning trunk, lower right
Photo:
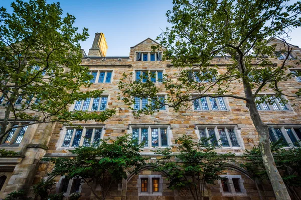
[[[301, 147], [285, 149], [282, 148], [280, 141], [270, 144], [276, 166], [280, 171], [282, 179], [286, 187], [294, 195], [296, 199], [301, 199], [298, 188], [301, 187]], [[251, 150], [246, 150], [243, 156], [248, 162], [242, 163], [253, 177], [264, 180], [268, 179], [268, 175], [263, 165], [260, 149], [254, 146]]]

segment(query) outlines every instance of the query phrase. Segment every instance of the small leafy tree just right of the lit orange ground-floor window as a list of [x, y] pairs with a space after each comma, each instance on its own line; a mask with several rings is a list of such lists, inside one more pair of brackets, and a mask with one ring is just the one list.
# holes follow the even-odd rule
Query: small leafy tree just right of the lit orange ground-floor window
[[173, 146], [179, 152], [176, 157], [172, 148], [156, 150], [163, 157], [156, 162], [154, 170], [166, 172], [169, 188], [190, 190], [195, 200], [203, 199], [205, 184], [221, 179], [219, 174], [234, 154], [218, 154], [215, 149], [219, 146], [209, 144], [209, 139], [195, 142], [187, 135], [179, 137], [178, 145]]

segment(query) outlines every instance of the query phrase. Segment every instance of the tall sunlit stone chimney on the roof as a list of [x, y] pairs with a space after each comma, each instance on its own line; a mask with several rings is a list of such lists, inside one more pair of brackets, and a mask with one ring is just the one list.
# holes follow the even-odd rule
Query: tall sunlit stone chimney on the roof
[[108, 45], [102, 32], [95, 33], [92, 47], [89, 49], [88, 57], [100, 56], [105, 57]]

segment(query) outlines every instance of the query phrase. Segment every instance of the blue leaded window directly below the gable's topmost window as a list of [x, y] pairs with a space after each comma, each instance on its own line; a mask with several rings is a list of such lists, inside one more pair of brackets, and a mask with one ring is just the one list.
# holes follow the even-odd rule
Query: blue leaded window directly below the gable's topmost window
[[135, 80], [146, 82], [148, 80], [152, 82], [163, 81], [163, 70], [135, 70]]

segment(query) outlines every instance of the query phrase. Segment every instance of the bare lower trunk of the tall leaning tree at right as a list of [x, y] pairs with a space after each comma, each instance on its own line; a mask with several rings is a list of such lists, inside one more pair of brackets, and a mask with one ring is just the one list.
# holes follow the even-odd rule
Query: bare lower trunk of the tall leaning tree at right
[[249, 95], [250, 90], [250, 88], [247, 88], [245, 90], [245, 94], [248, 99], [246, 106], [249, 108], [250, 116], [259, 135], [259, 149], [261, 152], [265, 170], [273, 187], [276, 199], [289, 200], [290, 196], [279, 174], [279, 171], [277, 170], [273, 154], [271, 152], [268, 126], [261, 120], [253, 94], [251, 96]]

